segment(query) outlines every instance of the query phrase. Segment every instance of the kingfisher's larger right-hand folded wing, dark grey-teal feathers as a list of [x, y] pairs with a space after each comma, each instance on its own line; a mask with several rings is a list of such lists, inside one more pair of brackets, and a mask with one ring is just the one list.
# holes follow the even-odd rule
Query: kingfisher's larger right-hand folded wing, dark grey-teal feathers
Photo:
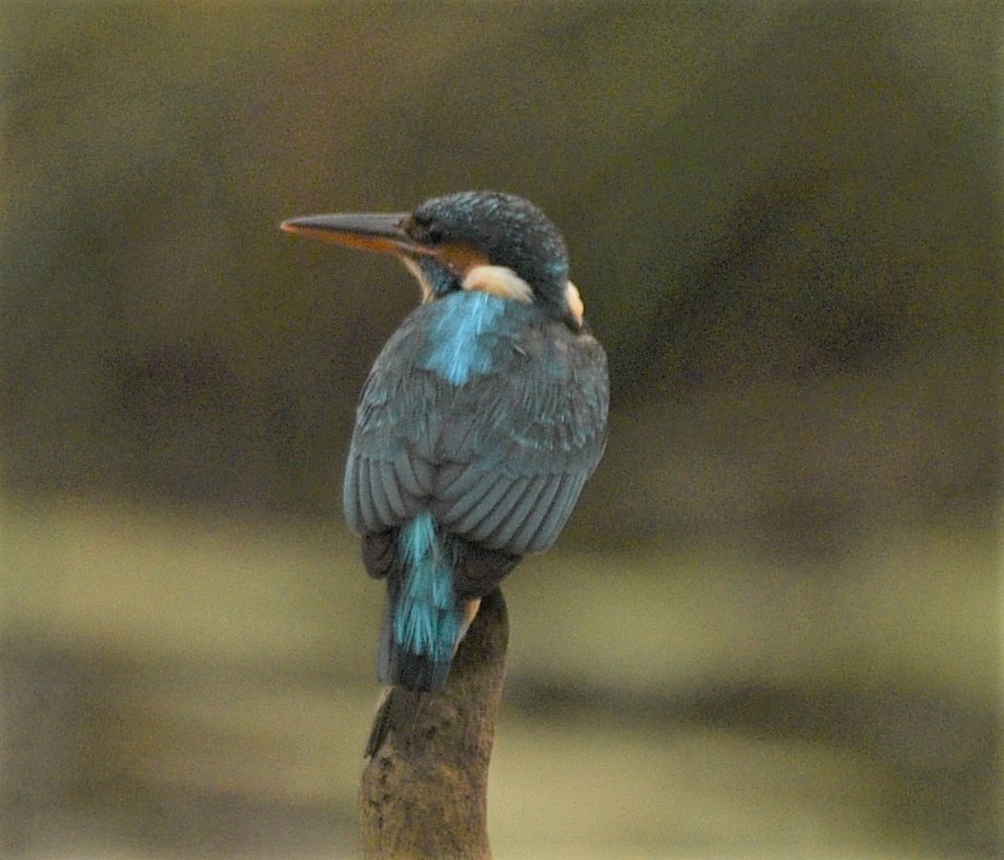
[[453, 534], [515, 554], [554, 543], [605, 442], [599, 344], [541, 335], [530, 332], [498, 378], [458, 398], [440, 431], [431, 503]]

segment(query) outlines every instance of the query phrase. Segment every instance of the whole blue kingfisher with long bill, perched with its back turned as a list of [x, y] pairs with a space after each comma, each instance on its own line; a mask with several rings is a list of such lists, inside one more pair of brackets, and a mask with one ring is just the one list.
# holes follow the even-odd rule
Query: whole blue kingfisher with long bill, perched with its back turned
[[561, 232], [522, 197], [460, 192], [281, 229], [396, 255], [418, 280], [362, 387], [343, 501], [386, 584], [380, 680], [439, 690], [481, 599], [555, 542], [602, 457], [605, 353]]

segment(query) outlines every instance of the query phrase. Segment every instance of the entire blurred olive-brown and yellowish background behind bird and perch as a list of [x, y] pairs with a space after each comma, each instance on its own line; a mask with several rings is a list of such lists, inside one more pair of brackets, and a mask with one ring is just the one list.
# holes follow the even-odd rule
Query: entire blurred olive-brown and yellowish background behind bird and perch
[[563, 228], [609, 451], [506, 587], [504, 858], [1001, 852], [991, 2], [4, 2], [0, 855], [358, 858], [339, 509], [417, 289]]

